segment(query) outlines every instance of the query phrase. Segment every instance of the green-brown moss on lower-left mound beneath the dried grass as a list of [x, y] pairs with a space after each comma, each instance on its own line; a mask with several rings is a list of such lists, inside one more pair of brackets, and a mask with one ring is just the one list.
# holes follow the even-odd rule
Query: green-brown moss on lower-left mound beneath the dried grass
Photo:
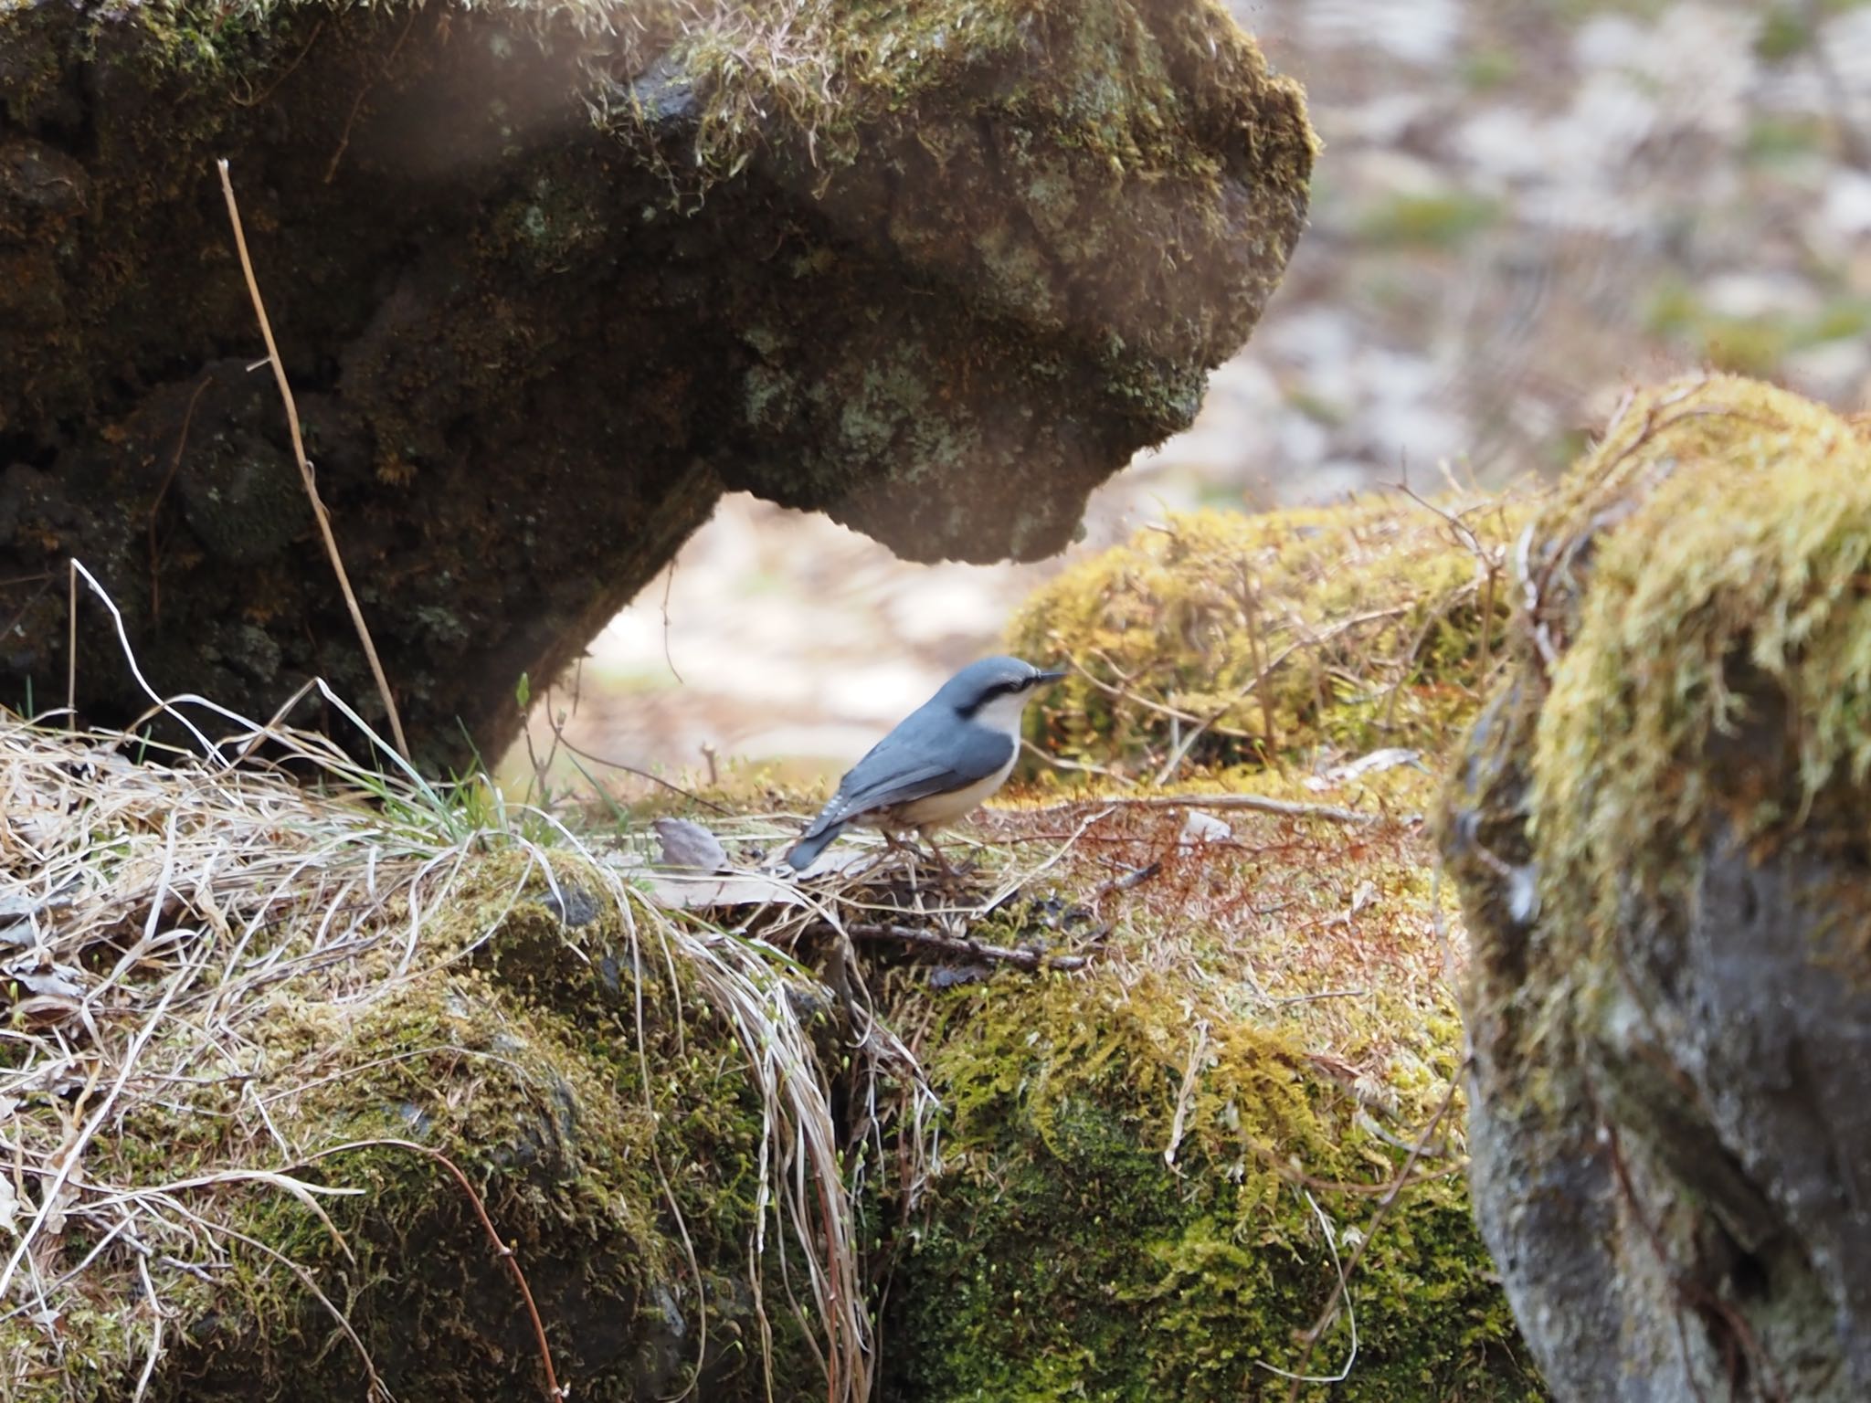
[[[574, 879], [573, 868], [561, 877]], [[215, 1225], [225, 1266], [191, 1276], [152, 1265], [174, 1323], [153, 1397], [359, 1396], [359, 1351], [309, 1283], [344, 1311], [402, 1397], [537, 1392], [518, 1285], [470, 1195], [423, 1149], [468, 1177], [515, 1248], [559, 1379], [576, 1381], [580, 1397], [687, 1384], [709, 1397], [765, 1396], [748, 1285], [763, 1119], [745, 1051], [681, 963], [649, 952], [638, 975], [616, 909], [567, 932], [535, 902], [515, 904], [524, 870], [492, 859], [470, 874], [402, 976], [387, 952], [355, 971], [393, 995], [281, 1001], [249, 1021], [243, 1057], [264, 1068], [253, 1087], [200, 1078], [123, 1119], [97, 1175], [221, 1180], [176, 1197]], [[165, 1066], [191, 1038], [180, 1029], [153, 1042], [146, 1064]], [[296, 1158], [283, 1160], [279, 1141]], [[348, 1192], [322, 1199], [327, 1223], [254, 1171]], [[793, 1251], [786, 1231], [769, 1222], [765, 1242], [763, 1274], [805, 1272], [797, 1257], [782, 1266]], [[82, 1373], [13, 1396], [123, 1396], [148, 1347], [133, 1259], [107, 1250], [92, 1280], [125, 1308], [62, 1323]], [[805, 1326], [775, 1296], [765, 1358], [776, 1388], [821, 1394]], [[0, 1343], [43, 1345], [19, 1321], [0, 1326]]]

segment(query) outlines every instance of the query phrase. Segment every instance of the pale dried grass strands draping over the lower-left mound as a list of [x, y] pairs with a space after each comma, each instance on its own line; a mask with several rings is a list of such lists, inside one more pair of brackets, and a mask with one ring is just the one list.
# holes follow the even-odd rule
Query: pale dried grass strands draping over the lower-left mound
[[[767, 1238], [784, 1233], [806, 1278], [786, 1280], [782, 1295], [810, 1323], [829, 1397], [868, 1396], [859, 1186], [842, 1167], [848, 1145], [795, 1012], [795, 963], [765, 941], [657, 905], [558, 817], [485, 786], [438, 789], [413, 773], [372, 773], [322, 735], [245, 722], [200, 698], [159, 707], [185, 722], [198, 750], [0, 713], [0, 1326], [26, 1339], [0, 1366], [0, 1397], [65, 1371], [82, 1334], [71, 1323], [125, 1293], [142, 1304], [122, 1313], [90, 1366], [101, 1354], [135, 1375], [140, 1397], [174, 1321], [219, 1289], [238, 1246], [303, 1283], [387, 1397], [361, 1332], [312, 1266], [243, 1235], [226, 1212], [236, 1192], [292, 1195], [348, 1251], [324, 1201], [363, 1192], [342, 1180], [331, 1147], [297, 1143], [269, 1113], [357, 1068], [299, 1061], [294, 1085], [281, 1085], [281, 1068], [264, 1066], [260, 1029], [284, 1008], [361, 1016], [438, 962], [460, 960], [458, 941], [434, 939], [438, 913], [500, 853], [524, 855], [507, 862], [520, 879], [468, 950], [494, 937], [524, 883], [558, 890], [576, 872], [616, 907], [636, 967], [681, 967], [733, 1029], [765, 1115], [760, 1227], [747, 1244], [756, 1295]], [[266, 761], [254, 758], [262, 748]], [[397, 763], [387, 748], [380, 756]], [[904, 1046], [863, 1008], [853, 1044], [879, 1150], [889, 1115], [876, 1104], [879, 1079], [909, 1087], [902, 1143], [876, 1164], [904, 1162], [913, 1193], [934, 1152], [932, 1098]], [[168, 1171], [159, 1150], [127, 1143], [125, 1124], [159, 1107], [221, 1117], [217, 1160]], [[776, 1255], [784, 1266], [788, 1253]]]

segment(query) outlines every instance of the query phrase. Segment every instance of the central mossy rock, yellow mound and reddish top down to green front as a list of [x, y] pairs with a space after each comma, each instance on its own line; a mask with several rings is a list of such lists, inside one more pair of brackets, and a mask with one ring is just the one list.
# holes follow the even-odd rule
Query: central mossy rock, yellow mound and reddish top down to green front
[[[1521, 511], [1171, 518], [1022, 612], [1014, 647], [1081, 668], [1035, 707], [1074, 763], [1153, 773], [1179, 748], [1166, 711], [1224, 702], [1244, 741], [1184, 746], [1175, 793], [994, 819], [995, 842], [1063, 844], [1050, 872], [1115, 920], [1087, 975], [934, 1001], [947, 1164], [902, 1229], [892, 1397], [1280, 1399], [1282, 1369], [1342, 1369], [1347, 1304], [1332, 1397], [1544, 1397], [1461, 1177], [1459, 932], [1439, 937], [1414, 817], [1435, 778], [1340, 769], [1472, 718]], [[1255, 670], [1270, 687], [1240, 685]], [[1007, 922], [1031, 937], [1031, 911]]]

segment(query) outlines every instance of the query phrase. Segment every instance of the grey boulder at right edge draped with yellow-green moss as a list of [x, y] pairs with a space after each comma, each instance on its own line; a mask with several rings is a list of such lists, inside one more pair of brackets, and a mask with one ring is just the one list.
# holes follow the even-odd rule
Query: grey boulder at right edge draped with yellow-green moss
[[1635, 395], [1532, 522], [1444, 812], [1482, 1227], [1555, 1392], [1871, 1390], [1871, 436]]

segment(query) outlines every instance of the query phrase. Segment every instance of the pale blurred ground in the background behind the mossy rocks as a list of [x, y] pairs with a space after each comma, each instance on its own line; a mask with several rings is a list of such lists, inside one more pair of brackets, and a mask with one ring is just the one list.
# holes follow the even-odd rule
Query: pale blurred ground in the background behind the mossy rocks
[[[1325, 152], [1285, 282], [1194, 428], [1038, 565], [906, 565], [728, 498], [573, 675], [533, 679], [537, 754], [563, 716], [587, 756], [672, 780], [836, 774], [997, 651], [1037, 582], [1168, 511], [1551, 475], [1622, 385], [1693, 367], [1871, 408], [1871, 4], [1233, 9], [1306, 84]], [[529, 771], [522, 745], [503, 773]]]

